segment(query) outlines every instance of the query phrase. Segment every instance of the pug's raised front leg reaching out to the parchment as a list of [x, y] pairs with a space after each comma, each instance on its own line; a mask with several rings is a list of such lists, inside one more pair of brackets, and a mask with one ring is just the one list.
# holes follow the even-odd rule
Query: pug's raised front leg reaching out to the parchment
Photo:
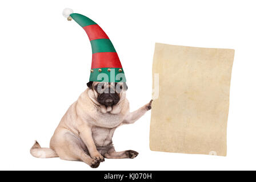
[[146, 111], [151, 109], [152, 101], [153, 100], [151, 100], [148, 104], [142, 106], [138, 110], [135, 110], [132, 113], [127, 114], [126, 118], [123, 120], [123, 123], [131, 124], [131, 123], [134, 123], [135, 121], [137, 121], [139, 118], [141, 118], [142, 115], [144, 115], [146, 113]]

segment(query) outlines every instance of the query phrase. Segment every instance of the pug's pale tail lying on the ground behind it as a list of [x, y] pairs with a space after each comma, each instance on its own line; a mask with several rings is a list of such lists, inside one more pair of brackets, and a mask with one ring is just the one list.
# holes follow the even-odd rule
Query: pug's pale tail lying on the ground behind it
[[35, 144], [30, 149], [30, 154], [35, 158], [57, 158], [58, 155], [51, 148], [41, 148], [37, 140]]

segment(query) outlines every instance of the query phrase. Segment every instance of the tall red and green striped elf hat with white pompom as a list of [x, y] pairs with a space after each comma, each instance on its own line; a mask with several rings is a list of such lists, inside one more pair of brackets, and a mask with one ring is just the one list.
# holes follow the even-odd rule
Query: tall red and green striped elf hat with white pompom
[[71, 9], [63, 10], [67, 20], [75, 20], [86, 31], [93, 51], [90, 81], [126, 82], [125, 74], [117, 52], [107, 34], [90, 18], [73, 13]]

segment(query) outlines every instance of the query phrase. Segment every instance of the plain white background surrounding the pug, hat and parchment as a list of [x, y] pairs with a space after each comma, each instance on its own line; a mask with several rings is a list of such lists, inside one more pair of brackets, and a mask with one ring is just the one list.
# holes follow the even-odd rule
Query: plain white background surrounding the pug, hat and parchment
[[136, 150], [138, 157], [106, 159], [93, 170], [256, 169], [255, 1], [1, 1], [0, 7], [0, 169], [91, 170], [29, 152], [35, 139], [49, 146], [89, 81], [90, 42], [62, 16], [65, 7], [109, 35], [126, 73], [131, 110], [151, 99], [155, 42], [235, 49], [226, 157], [150, 151], [148, 112], [113, 138], [117, 151]]

